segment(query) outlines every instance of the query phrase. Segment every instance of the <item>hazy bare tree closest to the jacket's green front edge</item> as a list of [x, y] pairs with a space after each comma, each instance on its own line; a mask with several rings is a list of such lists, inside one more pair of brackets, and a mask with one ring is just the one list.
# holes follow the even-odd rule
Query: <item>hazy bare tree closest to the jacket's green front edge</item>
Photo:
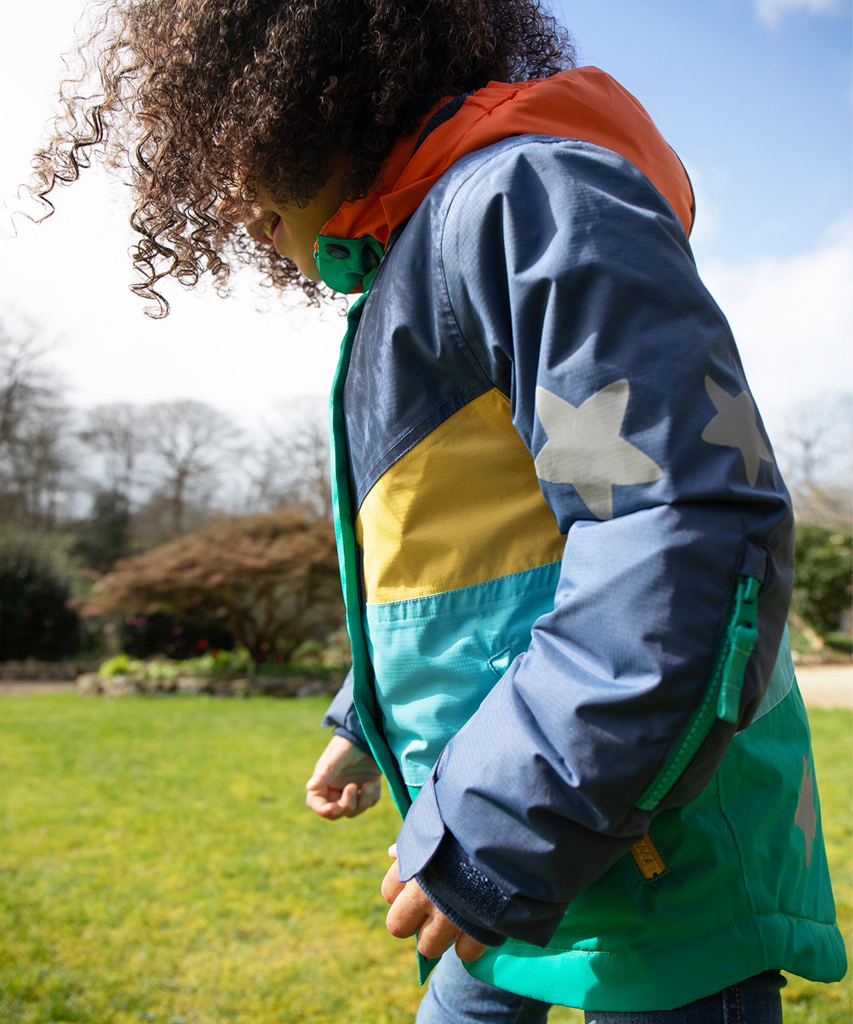
[[300, 504], [314, 515], [331, 518], [326, 402], [304, 396], [287, 406], [280, 403], [275, 421], [265, 425], [265, 438], [250, 475], [255, 507], [271, 511]]

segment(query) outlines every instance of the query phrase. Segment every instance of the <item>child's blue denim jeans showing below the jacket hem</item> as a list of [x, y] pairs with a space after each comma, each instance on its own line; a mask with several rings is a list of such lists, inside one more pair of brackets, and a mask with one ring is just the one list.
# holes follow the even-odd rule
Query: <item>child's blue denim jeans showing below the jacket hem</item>
[[[678, 1010], [587, 1011], [587, 1024], [782, 1024], [778, 971], [748, 978]], [[451, 949], [441, 957], [418, 1008], [416, 1024], [545, 1024], [550, 1004], [472, 978]]]

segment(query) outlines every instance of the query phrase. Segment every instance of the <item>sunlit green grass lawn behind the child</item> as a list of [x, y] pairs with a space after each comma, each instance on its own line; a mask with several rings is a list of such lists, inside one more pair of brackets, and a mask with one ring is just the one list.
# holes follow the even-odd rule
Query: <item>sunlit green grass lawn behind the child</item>
[[[411, 1021], [413, 943], [378, 893], [390, 800], [303, 807], [325, 703], [0, 697], [0, 1022]], [[812, 727], [849, 935], [851, 716]], [[791, 1024], [850, 1020], [849, 980], [785, 998]]]

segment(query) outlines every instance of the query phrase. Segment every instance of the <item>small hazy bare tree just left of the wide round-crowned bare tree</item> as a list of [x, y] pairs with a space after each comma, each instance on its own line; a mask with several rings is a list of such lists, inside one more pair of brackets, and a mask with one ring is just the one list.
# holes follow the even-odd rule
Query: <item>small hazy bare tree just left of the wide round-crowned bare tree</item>
[[80, 439], [101, 457], [99, 489], [132, 504], [141, 483], [142, 459], [151, 451], [151, 417], [127, 401], [95, 406], [86, 415]]

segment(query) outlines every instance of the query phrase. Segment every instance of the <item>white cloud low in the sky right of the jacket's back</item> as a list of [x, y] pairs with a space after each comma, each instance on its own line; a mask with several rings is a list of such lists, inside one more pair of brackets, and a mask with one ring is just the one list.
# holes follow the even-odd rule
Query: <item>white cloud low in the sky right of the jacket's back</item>
[[790, 259], [699, 269], [766, 419], [853, 388], [853, 225], [839, 224], [821, 247]]

